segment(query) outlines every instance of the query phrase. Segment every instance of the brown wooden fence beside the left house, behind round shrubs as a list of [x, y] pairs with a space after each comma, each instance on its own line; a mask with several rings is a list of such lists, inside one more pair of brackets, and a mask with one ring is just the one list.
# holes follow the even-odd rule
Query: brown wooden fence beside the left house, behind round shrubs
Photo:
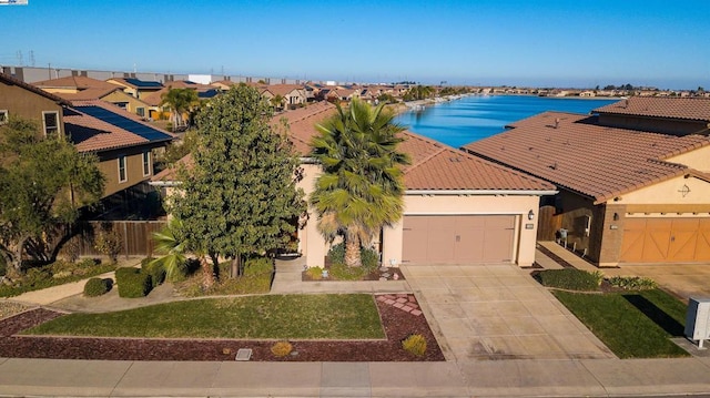
[[166, 222], [164, 221], [90, 221], [79, 225], [80, 255], [100, 256], [94, 246], [94, 236], [100, 231], [114, 231], [121, 236], [122, 249], [119, 256], [145, 256], [153, 254], [153, 232], [158, 232]]

